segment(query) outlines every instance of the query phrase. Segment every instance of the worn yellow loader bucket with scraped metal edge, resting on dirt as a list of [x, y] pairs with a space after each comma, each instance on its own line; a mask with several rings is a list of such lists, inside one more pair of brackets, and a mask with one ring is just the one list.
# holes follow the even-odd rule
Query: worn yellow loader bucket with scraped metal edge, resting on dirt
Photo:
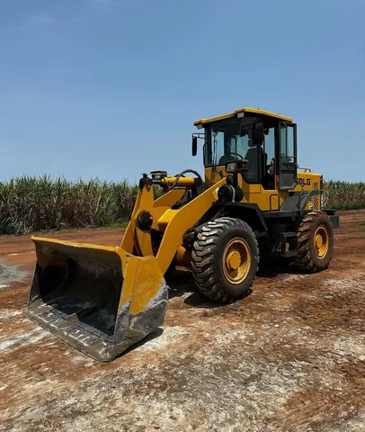
[[24, 314], [67, 344], [108, 362], [164, 322], [167, 285], [155, 257], [32, 240], [37, 264]]

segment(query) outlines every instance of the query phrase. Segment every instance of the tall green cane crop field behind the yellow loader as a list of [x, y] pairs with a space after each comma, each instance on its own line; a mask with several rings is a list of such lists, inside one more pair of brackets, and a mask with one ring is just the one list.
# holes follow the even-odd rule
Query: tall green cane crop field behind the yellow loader
[[[50, 229], [124, 228], [138, 186], [127, 180], [93, 179], [72, 183], [49, 176], [0, 182], [0, 234], [27, 234]], [[156, 193], [159, 193], [159, 188]], [[325, 184], [328, 208], [365, 208], [365, 183], [330, 181]]]

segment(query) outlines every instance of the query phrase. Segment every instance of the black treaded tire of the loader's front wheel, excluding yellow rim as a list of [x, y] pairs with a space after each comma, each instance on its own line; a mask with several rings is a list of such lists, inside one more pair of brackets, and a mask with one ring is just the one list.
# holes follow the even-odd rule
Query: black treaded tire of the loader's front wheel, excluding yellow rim
[[[251, 255], [245, 280], [232, 284], [225, 275], [223, 257], [227, 245], [243, 239]], [[259, 248], [254, 231], [240, 219], [222, 217], [210, 220], [194, 242], [191, 271], [201, 293], [215, 302], [236, 302], [250, 292], [259, 263]]]

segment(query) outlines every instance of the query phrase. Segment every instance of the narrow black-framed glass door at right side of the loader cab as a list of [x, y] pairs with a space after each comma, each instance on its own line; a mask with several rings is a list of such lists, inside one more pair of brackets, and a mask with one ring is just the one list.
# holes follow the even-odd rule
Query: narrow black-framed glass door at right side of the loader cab
[[278, 172], [279, 189], [294, 189], [297, 185], [297, 124], [279, 123]]

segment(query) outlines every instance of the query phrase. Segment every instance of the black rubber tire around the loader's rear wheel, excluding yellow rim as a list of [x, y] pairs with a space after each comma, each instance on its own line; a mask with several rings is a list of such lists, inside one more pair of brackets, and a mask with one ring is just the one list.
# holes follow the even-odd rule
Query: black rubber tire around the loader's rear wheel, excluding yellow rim
[[[318, 229], [325, 229], [328, 238], [328, 248], [323, 257], [316, 252], [315, 234]], [[334, 253], [334, 228], [324, 211], [310, 211], [298, 224], [298, 257], [294, 264], [310, 273], [320, 272], [328, 267]]]

